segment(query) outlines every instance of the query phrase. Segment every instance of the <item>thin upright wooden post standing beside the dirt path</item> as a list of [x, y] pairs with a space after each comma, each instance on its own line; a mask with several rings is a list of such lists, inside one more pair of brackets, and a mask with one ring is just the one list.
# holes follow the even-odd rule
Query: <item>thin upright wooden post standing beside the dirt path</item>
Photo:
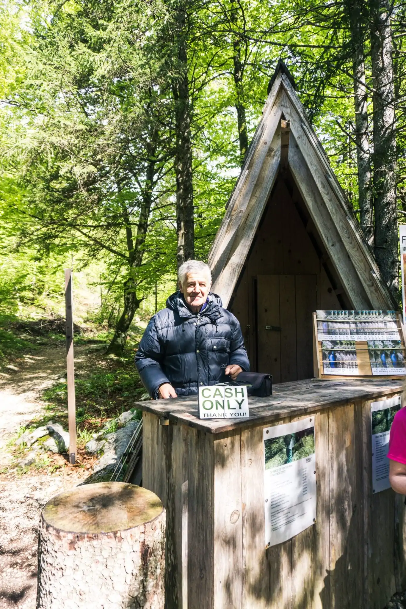
[[73, 357], [72, 270], [65, 269], [66, 379], [68, 381], [69, 463], [76, 463], [75, 365]]

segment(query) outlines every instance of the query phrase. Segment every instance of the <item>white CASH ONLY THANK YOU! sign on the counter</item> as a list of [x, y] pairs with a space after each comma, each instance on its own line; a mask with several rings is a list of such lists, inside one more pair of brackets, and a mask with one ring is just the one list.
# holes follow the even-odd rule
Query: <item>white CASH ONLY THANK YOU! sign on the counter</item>
[[246, 385], [199, 387], [199, 418], [249, 418]]

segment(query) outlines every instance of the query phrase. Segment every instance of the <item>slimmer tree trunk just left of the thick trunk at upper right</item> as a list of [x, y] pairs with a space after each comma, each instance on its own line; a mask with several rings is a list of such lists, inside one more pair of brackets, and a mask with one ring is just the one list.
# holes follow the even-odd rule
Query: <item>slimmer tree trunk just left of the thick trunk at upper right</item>
[[364, 63], [365, 15], [359, 0], [346, 3], [351, 32], [352, 72], [354, 75], [355, 144], [357, 146], [358, 202], [360, 227], [373, 247], [373, 197], [371, 153], [369, 150], [368, 106]]

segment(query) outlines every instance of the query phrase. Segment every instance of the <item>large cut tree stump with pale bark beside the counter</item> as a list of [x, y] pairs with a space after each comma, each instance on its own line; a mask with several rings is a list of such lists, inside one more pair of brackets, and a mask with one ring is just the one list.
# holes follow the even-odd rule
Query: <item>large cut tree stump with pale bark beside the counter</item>
[[38, 541], [37, 609], [163, 609], [165, 510], [123, 482], [47, 502]]

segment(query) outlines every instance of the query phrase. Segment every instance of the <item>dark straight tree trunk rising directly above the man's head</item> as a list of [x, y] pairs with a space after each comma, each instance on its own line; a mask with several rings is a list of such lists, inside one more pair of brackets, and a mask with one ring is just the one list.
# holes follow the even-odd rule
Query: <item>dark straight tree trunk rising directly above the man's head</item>
[[189, 79], [187, 76], [186, 8], [176, 13], [175, 48], [177, 48], [177, 76], [172, 85], [175, 100], [175, 173], [177, 183], [177, 266], [194, 258], [195, 231], [192, 183], [192, 135]]

